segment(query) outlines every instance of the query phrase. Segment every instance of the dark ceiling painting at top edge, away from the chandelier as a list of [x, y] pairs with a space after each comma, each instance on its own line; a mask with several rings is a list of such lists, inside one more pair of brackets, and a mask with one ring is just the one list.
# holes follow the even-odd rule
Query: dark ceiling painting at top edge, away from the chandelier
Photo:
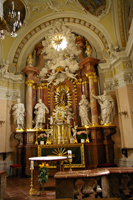
[[86, 11], [99, 16], [106, 8], [106, 0], [78, 0]]

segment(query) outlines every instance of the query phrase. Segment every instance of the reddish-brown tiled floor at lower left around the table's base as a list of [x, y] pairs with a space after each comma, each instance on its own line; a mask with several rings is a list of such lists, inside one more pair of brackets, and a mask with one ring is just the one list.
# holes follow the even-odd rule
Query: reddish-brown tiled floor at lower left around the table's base
[[30, 178], [7, 178], [6, 198], [4, 200], [41, 200], [41, 199], [55, 199], [55, 180], [49, 177], [49, 181], [45, 183], [46, 196], [31, 196]]

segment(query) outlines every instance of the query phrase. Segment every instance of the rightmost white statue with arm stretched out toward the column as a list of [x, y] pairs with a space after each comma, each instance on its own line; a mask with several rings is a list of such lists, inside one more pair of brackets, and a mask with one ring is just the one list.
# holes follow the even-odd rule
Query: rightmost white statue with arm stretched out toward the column
[[92, 96], [98, 100], [98, 103], [101, 106], [102, 124], [113, 123], [115, 112], [114, 112], [114, 100], [111, 97], [111, 95], [107, 94], [106, 90], [104, 90], [103, 95], [99, 96], [92, 95]]

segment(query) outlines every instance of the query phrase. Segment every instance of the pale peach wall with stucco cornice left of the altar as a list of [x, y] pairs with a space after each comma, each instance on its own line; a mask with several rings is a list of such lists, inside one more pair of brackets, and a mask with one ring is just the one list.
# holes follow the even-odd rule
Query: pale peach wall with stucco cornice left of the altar
[[16, 146], [18, 141], [14, 138], [15, 125], [12, 105], [18, 96], [21, 97], [21, 100], [24, 98], [24, 80], [22, 75], [15, 76], [10, 73], [0, 77], [0, 120], [5, 121], [0, 124], [0, 170], [6, 170], [7, 176], [10, 174], [10, 165], [17, 163]]

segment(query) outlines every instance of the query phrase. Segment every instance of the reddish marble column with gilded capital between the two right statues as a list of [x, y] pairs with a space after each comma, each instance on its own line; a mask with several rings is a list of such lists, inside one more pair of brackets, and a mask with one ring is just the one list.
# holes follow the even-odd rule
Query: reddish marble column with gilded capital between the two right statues
[[98, 112], [97, 112], [97, 101], [92, 97], [92, 94], [96, 95], [95, 91], [95, 78], [96, 74], [95, 72], [89, 72], [86, 74], [86, 76], [89, 79], [89, 91], [90, 91], [90, 106], [91, 106], [91, 119], [92, 124], [96, 125], [98, 124]]

